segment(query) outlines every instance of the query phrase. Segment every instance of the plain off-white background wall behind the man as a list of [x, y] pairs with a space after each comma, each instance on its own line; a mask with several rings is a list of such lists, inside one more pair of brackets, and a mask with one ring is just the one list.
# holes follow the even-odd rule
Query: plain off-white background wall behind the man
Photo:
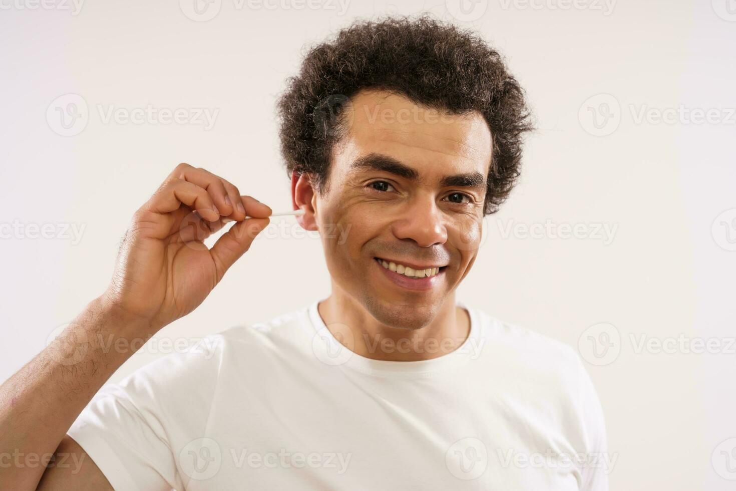
[[[0, 379], [105, 289], [132, 212], [177, 163], [291, 209], [275, 101], [305, 46], [355, 18], [431, 11], [503, 52], [538, 127], [458, 297], [580, 350], [617, 459], [612, 489], [732, 489], [732, 0], [199, 7], [0, 0]], [[181, 121], [121, 119], [146, 107]], [[112, 380], [176, 349], [157, 340], [194, 342], [327, 297], [319, 239], [295, 223], [274, 219], [197, 311]]]

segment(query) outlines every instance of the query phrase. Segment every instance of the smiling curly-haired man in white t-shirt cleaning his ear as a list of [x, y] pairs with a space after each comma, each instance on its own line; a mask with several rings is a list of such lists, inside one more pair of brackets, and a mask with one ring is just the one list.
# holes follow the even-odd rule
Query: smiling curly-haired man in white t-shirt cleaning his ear
[[[177, 166], [105, 294], [2, 386], [0, 453], [47, 464], [6, 466], [3, 489], [607, 489], [576, 353], [455, 297], [530, 129], [499, 54], [428, 17], [361, 22], [308, 53], [278, 107], [330, 297], [103, 386], [133, 350], [103, 342], [137, 347], [193, 311], [269, 224], [229, 181]], [[244, 292], [269, 294], [258, 278]]]

